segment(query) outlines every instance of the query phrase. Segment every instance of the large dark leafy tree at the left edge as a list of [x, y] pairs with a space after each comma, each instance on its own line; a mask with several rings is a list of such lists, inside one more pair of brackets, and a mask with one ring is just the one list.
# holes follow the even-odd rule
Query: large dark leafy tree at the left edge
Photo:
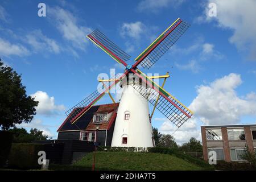
[[27, 96], [21, 76], [13, 68], [3, 66], [0, 59], [0, 127], [7, 130], [22, 122], [31, 122], [38, 101]]

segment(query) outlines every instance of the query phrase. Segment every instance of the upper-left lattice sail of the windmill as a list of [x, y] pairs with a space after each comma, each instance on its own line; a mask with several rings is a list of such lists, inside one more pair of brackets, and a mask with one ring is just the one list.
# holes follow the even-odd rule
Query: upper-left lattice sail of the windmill
[[117, 58], [123, 61], [127, 61], [131, 58], [130, 55], [128, 55], [125, 51], [115, 45], [106, 35], [104, 35], [98, 29], [87, 35], [87, 37], [92, 40], [93, 43], [97, 44], [98, 47], [108, 53], [118, 63], [120, 63], [120, 61]]

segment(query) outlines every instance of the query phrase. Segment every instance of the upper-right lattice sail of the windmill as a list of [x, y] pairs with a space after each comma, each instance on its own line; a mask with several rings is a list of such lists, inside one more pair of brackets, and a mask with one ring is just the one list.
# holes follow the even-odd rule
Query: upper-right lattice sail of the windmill
[[190, 24], [181, 19], [177, 19], [162, 35], [159, 36], [140, 56], [135, 59], [143, 68], [151, 68], [170, 49], [175, 42], [189, 28]]

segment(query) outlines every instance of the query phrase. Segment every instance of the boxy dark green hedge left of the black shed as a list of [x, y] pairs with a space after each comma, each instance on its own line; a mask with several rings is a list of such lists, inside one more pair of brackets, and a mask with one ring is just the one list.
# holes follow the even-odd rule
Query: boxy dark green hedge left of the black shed
[[18, 169], [38, 169], [38, 152], [44, 150], [42, 144], [18, 143], [11, 146], [9, 167]]

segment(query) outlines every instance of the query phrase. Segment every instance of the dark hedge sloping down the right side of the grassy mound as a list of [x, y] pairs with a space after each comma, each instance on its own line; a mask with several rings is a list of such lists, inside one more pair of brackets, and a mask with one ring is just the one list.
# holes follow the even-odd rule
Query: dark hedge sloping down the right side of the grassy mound
[[173, 148], [166, 148], [166, 147], [152, 147], [152, 148], [148, 148], [149, 152], [154, 152], [154, 153], [160, 153], [160, 154], [170, 154], [170, 155], [174, 155], [177, 158], [181, 158], [183, 160], [186, 160], [187, 162], [193, 163], [193, 164], [197, 164], [200, 167], [203, 167], [207, 170], [213, 170], [214, 166], [206, 163], [204, 160], [200, 160], [200, 159], [196, 159], [193, 158], [190, 155], [187, 154], [183, 154], [178, 150], [175, 150]]

